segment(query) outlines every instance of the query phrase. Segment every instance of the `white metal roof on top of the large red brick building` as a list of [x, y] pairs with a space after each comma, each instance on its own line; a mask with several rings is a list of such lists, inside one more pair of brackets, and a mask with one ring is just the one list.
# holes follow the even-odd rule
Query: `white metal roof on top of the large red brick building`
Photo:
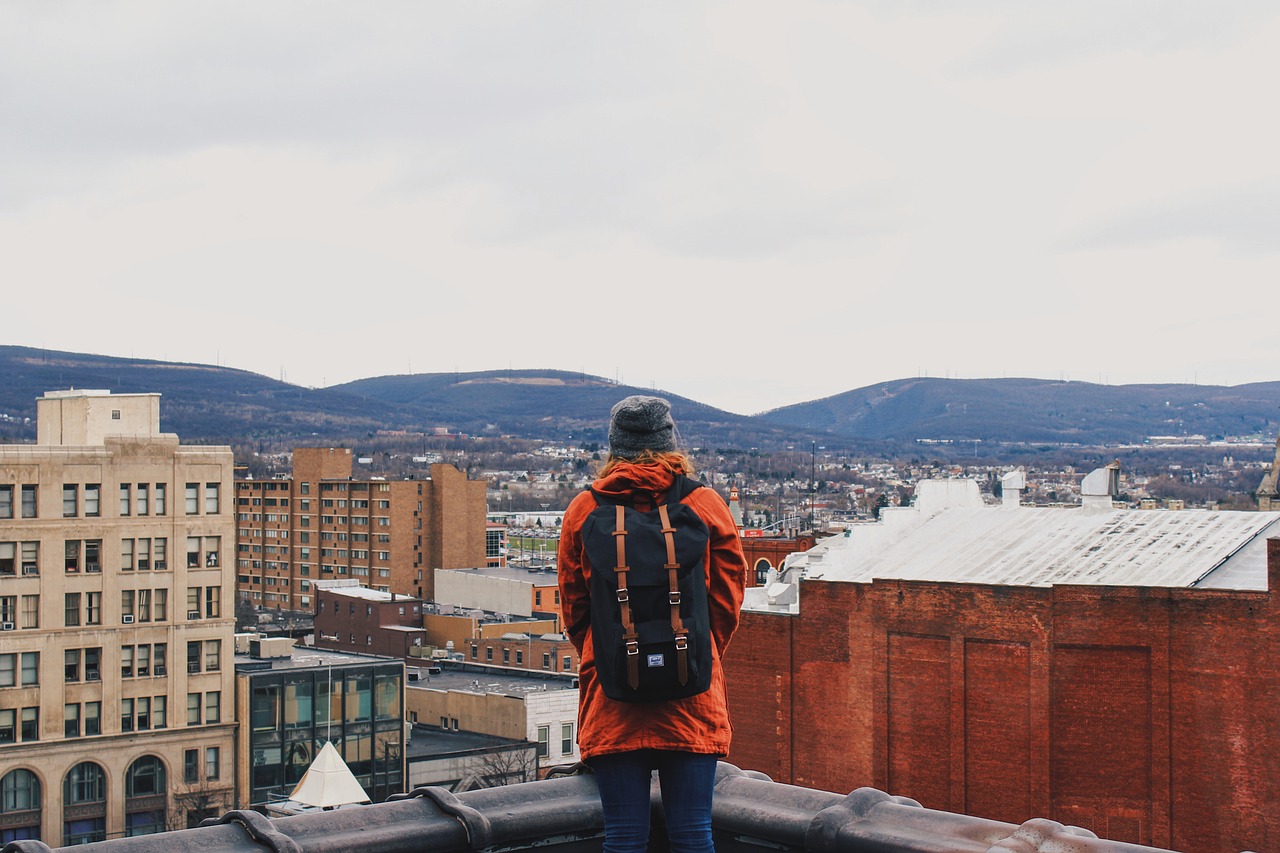
[[[810, 579], [1266, 589], [1280, 512], [916, 507], [792, 555]], [[932, 510], [932, 511], [931, 511]]]

